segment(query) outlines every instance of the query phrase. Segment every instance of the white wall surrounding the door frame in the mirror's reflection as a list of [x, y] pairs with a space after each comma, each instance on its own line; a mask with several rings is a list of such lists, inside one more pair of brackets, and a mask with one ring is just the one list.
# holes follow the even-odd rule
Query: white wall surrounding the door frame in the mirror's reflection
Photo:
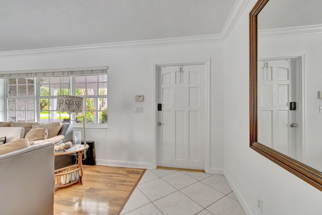
[[322, 90], [322, 33], [260, 38], [259, 41], [264, 56], [304, 54], [305, 140], [302, 162], [322, 171], [322, 114], [319, 113], [322, 100], [317, 98], [317, 92]]

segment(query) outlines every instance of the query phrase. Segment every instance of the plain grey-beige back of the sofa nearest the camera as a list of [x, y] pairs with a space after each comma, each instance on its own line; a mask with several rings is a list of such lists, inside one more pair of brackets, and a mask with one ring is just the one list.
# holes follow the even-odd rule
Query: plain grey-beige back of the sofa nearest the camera
[[53, 158], [49, 142], [0, 156], [1, 214], [53, 214]]

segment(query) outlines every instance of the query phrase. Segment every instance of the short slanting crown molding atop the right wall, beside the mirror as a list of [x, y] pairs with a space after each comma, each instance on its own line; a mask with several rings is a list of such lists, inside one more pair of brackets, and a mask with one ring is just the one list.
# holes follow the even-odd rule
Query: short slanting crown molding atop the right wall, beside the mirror
[[235, 2], [235, 5], [233, 6], [228, 19], [224, 25], [224, 27], [222, 28], [222, 31], [220, 33], [222, 40], [225, 41], [226, 38], [228, 37], [229, 33], [231, 32], [231, 30], [233, 29], [233, 27], [235, 26], [235, 24], [237, 23], [240, 15], [243, 13], [243, 11], [245, 10], [247, 4], [248, 4], [249, 0], [237, 0]]

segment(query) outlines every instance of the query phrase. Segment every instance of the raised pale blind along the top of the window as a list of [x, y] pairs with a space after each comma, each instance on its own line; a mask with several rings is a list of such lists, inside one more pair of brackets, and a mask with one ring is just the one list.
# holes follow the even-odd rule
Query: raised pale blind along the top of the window
[[69, 77], [106, 74], [108, 66], [86, 67], [86, 68], [59, 68], [59, 69], [40, 69], [40, 70], [16, 70], [2, 71], [0, 78], [32, 78], [32, 77]]

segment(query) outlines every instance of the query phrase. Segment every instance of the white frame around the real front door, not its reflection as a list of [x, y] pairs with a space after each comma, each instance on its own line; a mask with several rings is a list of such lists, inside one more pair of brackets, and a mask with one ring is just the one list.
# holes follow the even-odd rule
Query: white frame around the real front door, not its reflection
[[154, 159], [153, 166], [157, 166], [157, 67], [158, 66], [172, 66], [172, 65], [192, 65], [192, 64], [203, 64], [205, 66], [205, 120], [204, 120], [204, 171], [209, 173], [210, 171], [210, 58], [205, 60], [188, 60], [188, 61], [165, 61], [165, 62], [154, 62], [153, 63], [153, 145], [154, 145]]

